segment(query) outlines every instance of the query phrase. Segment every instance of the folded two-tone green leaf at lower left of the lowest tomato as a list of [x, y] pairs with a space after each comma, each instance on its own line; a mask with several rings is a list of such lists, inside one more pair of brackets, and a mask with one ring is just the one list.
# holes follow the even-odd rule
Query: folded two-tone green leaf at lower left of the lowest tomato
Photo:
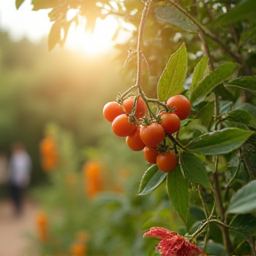
[[140, 180], [139, 195], [146, 195], [156, 189], [164, 180], [167, 173], [158, 170], [156, 164], [150, 166]]

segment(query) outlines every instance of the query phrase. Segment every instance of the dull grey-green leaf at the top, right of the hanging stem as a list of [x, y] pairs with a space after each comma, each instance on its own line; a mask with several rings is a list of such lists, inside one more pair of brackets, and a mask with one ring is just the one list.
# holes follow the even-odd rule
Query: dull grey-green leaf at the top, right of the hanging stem
[[170, 23], [188, 32], [197, 32], [197, 29], [191, 20], [172, 5], [157, 6], [155, 9], [155, 15], [156, 19], [160, 22]]

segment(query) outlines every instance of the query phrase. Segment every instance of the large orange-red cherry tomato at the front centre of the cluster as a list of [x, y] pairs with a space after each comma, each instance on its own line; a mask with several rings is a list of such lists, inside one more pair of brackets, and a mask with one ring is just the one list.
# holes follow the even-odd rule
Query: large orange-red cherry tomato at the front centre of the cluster
[[156, 148], [164, 140], [164, 128], [161, 124], [151, 123], [140, 126], [140, 139], [146, 146]]

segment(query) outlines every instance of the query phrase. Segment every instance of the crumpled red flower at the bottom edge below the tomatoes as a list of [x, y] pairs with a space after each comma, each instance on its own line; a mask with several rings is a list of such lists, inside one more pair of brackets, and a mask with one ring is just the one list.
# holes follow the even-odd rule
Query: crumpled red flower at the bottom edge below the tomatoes
[[150, 228], [143, 236], [162, 239], [156, 246], [156, 251], [162, 256], [206, 256], [195, 244], [191, 244], [183, 236], [166, 228]]

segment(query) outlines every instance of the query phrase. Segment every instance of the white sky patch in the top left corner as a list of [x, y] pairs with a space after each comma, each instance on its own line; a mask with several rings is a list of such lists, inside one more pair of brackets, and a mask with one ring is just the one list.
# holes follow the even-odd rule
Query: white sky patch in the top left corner
[[49, 10], [31, 11], [30, 3], [26, 0], [17, 11], [15, 0], [0, 0], [0, 29], [8, 31], [13, 40], [26, 36], [38, 42], [49, 33], [52, 25], [47, 15]]

